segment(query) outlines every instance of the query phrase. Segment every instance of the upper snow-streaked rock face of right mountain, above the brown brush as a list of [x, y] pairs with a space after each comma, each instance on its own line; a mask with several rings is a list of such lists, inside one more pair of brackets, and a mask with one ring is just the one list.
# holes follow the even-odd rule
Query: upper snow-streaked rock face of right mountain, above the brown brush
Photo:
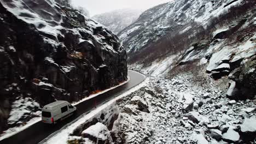
[[124, 41], [127, 52], [133, 54], [154, 44], [166, 34], [191, 31], [190, 34], [193, 35], [198, 28], [210, 25], [214, 17], [219, 17], [234, 5], [244, 2], [249, 1], [186, 0], [161, 4], [142, 13], [136, 22], [119, 33], [119, 37]]

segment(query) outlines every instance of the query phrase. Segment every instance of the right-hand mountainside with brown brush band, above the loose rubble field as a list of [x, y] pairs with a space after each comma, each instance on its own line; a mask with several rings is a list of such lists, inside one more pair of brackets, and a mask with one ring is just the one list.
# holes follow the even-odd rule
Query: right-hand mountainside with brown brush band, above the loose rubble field
[[229, 76], [231, 99], [253, 98], [254, 6], [254, 1], [191, 0], [149, 9], [120, 34], [130, 68], [153, 76], [204, 68], [215, 80]]

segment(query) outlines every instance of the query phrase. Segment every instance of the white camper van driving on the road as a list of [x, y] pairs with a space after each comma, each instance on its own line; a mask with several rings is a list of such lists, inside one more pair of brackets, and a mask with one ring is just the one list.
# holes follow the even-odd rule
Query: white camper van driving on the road
[[42, 122], [55, 124], [77, 111], [77, 107], [72, 106], [67, 101], [59, 100], [45, 105], [42, 109]]

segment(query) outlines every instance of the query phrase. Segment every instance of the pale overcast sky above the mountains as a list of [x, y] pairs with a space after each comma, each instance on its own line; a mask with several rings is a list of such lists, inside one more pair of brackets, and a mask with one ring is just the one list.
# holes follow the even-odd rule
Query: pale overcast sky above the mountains
[[171, 0], [72, 0], [72, 4], [88, 9], [90, 16], [94, 16], [125, 8], [146, 10], [169, 1]]

